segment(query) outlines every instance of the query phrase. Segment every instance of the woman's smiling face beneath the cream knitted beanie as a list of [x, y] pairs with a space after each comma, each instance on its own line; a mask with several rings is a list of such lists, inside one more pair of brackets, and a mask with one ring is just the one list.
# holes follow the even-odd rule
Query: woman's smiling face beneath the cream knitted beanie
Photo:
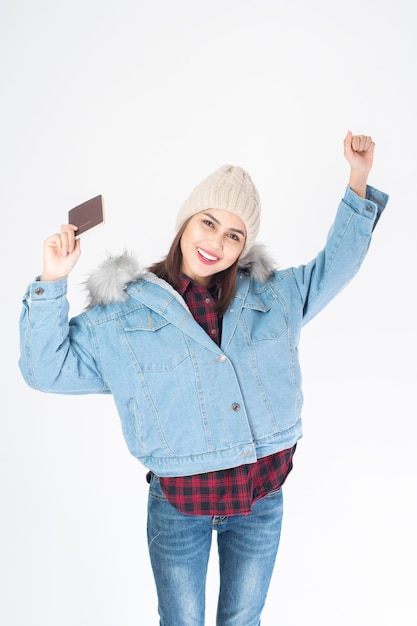
[[201, 211], [193, 215], [181, 237], [181, 269], [207, 287], [213, 274], [233, 265], [245, 240], [245, 225], [234, 213], [219, 209]]

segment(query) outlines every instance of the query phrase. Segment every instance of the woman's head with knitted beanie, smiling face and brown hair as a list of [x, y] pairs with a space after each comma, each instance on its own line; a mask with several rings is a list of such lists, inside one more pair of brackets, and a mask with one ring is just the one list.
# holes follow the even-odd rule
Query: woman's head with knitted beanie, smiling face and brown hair
[[175, 289], [181, 273], [210, 287], [216, 292], [215, 311], [223, 315], [235, 292], [238, 261], [254, 249], [260, 214], [259, 193], [249, 174], [242, 167], [223, 165], [184, 202], [166, 259], [149, 271]]

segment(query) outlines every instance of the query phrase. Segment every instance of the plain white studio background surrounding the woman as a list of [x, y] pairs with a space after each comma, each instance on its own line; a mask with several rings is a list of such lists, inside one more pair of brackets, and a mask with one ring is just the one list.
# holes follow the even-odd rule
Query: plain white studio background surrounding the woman
[[[350, 128], [390, 194], [353, 283], [304, 330], [304, 438], [263, 626], [415, 626], [416, 18], [412, 0], [2, 0], [0, 621], [154, 626], [145, 469], [111, 398], [17, 367], [26, 285], [67, 210], [103, 194], [70, 283], [107, 252], [163, 256], [224, 163], [259, 188], [281, 267], [324, 242]], [[216, 555], [207, 623], [214, 624]]]

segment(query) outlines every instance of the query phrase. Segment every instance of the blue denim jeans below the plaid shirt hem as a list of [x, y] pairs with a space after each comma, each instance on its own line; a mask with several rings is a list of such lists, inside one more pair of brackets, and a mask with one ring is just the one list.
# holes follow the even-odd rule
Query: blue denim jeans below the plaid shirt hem
[[220, 592], [217, 626], [259, 626], [278, 551], [282, 491], [258, 500], [249, 515], [185, 515], [152, 475], [148, 547], [160, 626], [203, 626], [212, 531], [217, 531]]

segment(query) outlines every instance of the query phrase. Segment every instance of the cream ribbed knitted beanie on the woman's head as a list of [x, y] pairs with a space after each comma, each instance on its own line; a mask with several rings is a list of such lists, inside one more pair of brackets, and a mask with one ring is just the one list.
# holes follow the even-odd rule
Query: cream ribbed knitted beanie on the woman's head
[[249, 174], [241, 167], [223, 165], [204, 179], [179, 210], [176, 232], [189, 218], [207, 209], [222, 209], [238, 215], [245, 224], [248, 253], [260, 225], [261, 205], [258, 191]]

